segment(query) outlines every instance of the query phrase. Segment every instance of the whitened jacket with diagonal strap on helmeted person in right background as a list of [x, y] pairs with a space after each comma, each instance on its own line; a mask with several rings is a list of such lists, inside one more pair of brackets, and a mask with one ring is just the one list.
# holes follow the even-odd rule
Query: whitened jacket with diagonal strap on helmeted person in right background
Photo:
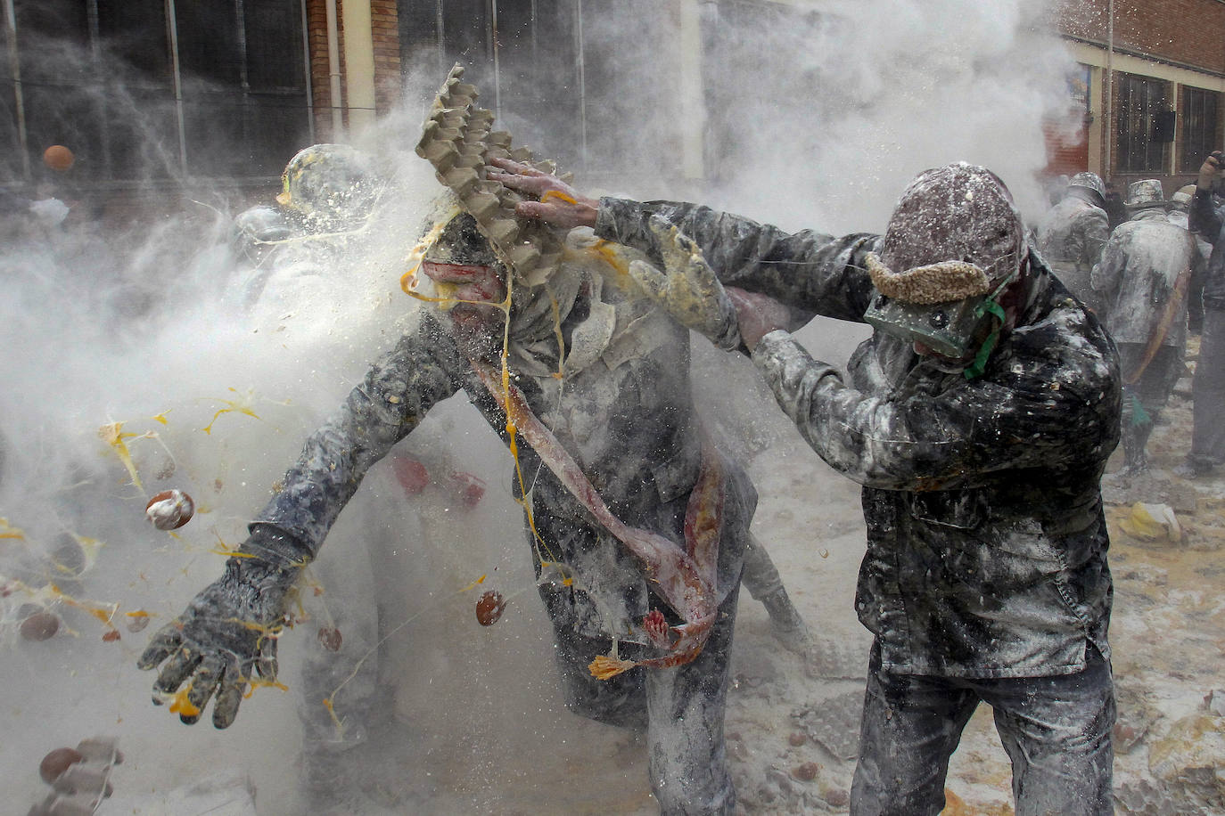
[[[1120, 224], [1093, 270], [1093, 287], [1110, 305], [1106, 328], [1115, 343], [1187, 345], [1187, 292], [1202, 274], [1194, 237], [1159, 208]], [[1180, 284], [1181, 279], [1181, 284]], [[1163, 318], [1172, 313], [1174, 319]]]

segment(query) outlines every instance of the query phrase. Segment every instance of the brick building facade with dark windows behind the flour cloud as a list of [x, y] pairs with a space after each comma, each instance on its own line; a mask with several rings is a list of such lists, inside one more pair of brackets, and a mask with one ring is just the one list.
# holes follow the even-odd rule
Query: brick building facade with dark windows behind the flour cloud
[[[109, 190], [267, 186], [298, 147], [348, 141], [405, 87], [463, 62], [517, 141], [597, 182], [628, 174], [684, 192], [757, 147], [735, 116], [782, 80], [745, 32], [811, 35], [837, 18], [820, 0], [0, 5], [0, 184]], [[1050, 26], [1077, 60], [1079, 110], [1046, 128], [1050, 175], [1093, 170], [1121, 188], [1155, 176], [1172, 192], [1221, 147], [1225, 2], [1063, 0]], [[660, 125], [644, 109], [671, 115]], [[44, 166], [53, 144], [74, 152], [71, 171]]]

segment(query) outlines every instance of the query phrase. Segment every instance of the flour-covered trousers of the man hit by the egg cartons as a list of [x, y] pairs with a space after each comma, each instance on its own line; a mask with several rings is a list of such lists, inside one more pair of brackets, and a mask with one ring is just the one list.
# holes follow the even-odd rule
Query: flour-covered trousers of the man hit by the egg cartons
[[[550, 613], [560, 602], [550, 597], [552, 592], [540, 590]], [[735, 812], [723, 717], [739, 595], [736, 581], [719, 606], [706, 648], [692, 662], [665, 669], [638, 667], [610, 680], [597, 680], [587, 666], [595, 656], [608, 655], [611, 641], [581, 635], [554, 618], [566, 706], [598, 722], [647, 729], [650, 787], [663, 816]], [[638, 657], [632, 648], [621, 644], [621, 657]]]

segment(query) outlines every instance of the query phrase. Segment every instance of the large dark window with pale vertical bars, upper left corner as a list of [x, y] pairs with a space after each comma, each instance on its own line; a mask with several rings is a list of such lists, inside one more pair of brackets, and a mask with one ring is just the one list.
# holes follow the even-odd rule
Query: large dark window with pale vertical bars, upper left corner
[[76, 154], [82, 181], [274, 175], [309, 139], [303, 0], [13, 0], [13, 11], [0, 66], [0, 139], [13, 150], [0, 181], [37, 181], [50, 144]]

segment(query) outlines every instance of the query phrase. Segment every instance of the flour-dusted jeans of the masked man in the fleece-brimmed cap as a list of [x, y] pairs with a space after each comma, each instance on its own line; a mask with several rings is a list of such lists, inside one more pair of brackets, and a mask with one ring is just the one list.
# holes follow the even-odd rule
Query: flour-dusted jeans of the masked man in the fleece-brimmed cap
[[1012, 760], [1017, 816], [1114, 814], [1114, 679], [1087, 648], [1076, 674], [974, 680], [884, 672], [873, 646], [851, 815], [940, 814], [948, 760], [980, 701]]

